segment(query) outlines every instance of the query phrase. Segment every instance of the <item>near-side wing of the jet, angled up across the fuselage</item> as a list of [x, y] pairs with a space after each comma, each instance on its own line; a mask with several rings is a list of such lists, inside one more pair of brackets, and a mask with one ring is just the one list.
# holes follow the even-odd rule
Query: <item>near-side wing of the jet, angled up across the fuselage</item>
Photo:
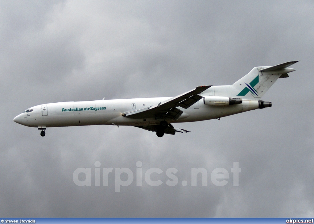
[[144, 109], [126, 112], [123, 113], [122, 116], [135, 119], [155, 117], [159, 119], [170, 118], [177, 120], [183, 113], [183, 111], [177, 107], [182, 107], [184, 109], [189, 108], [198, 100], [203, 98], [198, 94], [202, 93], [209, 87], [211, 86], [198, 86], [191, 91], [182, 93], [176, 97], [160, 102], [159, 104], [155, 104]]

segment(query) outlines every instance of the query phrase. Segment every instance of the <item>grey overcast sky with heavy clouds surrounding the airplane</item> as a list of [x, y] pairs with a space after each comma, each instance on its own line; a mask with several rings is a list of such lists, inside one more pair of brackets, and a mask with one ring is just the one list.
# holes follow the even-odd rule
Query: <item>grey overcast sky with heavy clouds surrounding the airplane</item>
[[[191, 131], [185, 134], [158, 138], [135, 127], [97, 125], [48, 128], [41, 137], [13, 121], [39, 104], [176, 96], [294, 60], [300, 60], [291, 66], [296, 71], [262, 98], [271, 108], [174, 125]], [[312, 0], [0, 0], [0, 214], [313, 217], [313, 65]], [[108, 186], [95, 186], [96, 161], [101, 170], [113, 168]], [[142, 186], [136, 186], [138, 161]], [[73, 182], [77, 168], [91, 168], [91, 186]], [[120, 192], [115, 168], [134, 173]], [[149, 168], [163, 171], [151, 176], [160, 186], [144, 181]], [[176, 186], [165, 184], [168, 168], [178, 170]], [[207, 170], [207, 186], [199, 176], [191, 186], [192, 168]], [[228, 184], [211, 182], [215, 168], [229, 172]]]

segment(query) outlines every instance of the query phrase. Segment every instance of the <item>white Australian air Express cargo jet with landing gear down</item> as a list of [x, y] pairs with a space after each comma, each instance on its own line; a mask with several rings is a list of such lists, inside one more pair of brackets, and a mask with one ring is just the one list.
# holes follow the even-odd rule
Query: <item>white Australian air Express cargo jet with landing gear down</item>
[[175, 97], [109, 99], [80, 102], [59, 102], [30, 107], [17, 115], [16, 123], [41, 130], [48, 127], [81, 125], [132, 125], [156, 132], [158, 137], [176, 132], [173, 123], [193, 122], [234, 115], [271, 107], [261, 97], [278, 78], [289, 77], [289, 68], [298, 61], [275, 66], [254, 67], [232, 85], [198, 86]]

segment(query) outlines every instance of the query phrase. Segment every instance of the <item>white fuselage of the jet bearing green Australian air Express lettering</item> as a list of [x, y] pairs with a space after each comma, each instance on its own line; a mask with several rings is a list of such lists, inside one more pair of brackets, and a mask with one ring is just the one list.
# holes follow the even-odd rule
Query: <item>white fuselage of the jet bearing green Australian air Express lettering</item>
[[[80, 102], [60, 102], [41, 104], [31, 107], [31, 112], [23, 112], [14, 121], [29, 127], [62, 127], [79, 125], [158, 125], [160, 120], [154, 117], [132, 119], [122, 116], [123, 113], [143, 109], [163, 102], [171, 97], [112, 99]], [[244, 111], [257, 109], [257, 100], [243, 100], [242, 104], [230, 106], [205, 105], [203, 99], [188, 109], [178, 107], [183, 114], [178, 120], [167, 120], [168, 123], [209, 120]]]

